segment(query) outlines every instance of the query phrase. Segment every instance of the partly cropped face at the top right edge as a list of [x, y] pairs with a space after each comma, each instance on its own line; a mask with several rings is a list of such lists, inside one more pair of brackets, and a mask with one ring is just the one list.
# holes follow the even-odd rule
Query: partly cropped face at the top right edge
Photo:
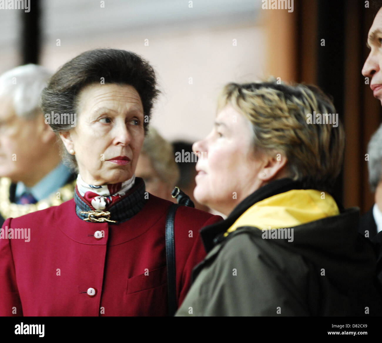
[[[382, 9], [381, 9], [382, 10]], [[369, 30], [367, 45], [370, 48], [369, 56], [362, 69], [362, 75], [371, 80], [370, 88], [374, 96], [382, 103], [382, 11], [379, 10]]]

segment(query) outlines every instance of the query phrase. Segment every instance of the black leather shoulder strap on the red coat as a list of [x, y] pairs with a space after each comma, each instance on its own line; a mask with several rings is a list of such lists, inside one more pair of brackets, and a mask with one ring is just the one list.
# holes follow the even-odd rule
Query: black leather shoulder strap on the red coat
[[166, 219], [166, 260], [167, 260], [167, 294], [168, 315], [173, 316], [178, 308], [176, 301], [176, 278], [175, 278], [175, 240], [174, 221], [178, 204], [172, 204], [167, 212]]

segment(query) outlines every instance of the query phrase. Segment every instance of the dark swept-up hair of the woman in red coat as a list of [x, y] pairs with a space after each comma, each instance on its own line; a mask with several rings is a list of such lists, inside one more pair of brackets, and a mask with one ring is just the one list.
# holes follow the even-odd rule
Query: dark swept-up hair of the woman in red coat
[[[101, 82], [131, 85], [138, 92], [144, 114], [144, 131], [147, 133], [151, 109], [160, 91], [157, 89], [154, 69], [138, 54], [119, 49], [95, 49], [85, 51], [66, 62], [50, 78], [42, 91], [43, 113], [77, 113], [79, 92], [89, 84]], [[147, 120], [148, 119], [148, 120]], [[72, 129], [71, 124], [50, 123], [53, 131]], [[63, 151], [63, 157], [70, 167], [76, 169], [73, 155]]]

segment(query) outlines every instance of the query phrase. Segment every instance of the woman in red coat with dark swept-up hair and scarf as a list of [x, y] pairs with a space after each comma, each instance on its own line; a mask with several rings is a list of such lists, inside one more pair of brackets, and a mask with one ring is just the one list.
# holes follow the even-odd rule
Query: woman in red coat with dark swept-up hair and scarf
[[[75, 196], [4, 222], [0, 315], [168, 314], [165, 221], [172, 203], [134, 176], [158, 93], [152, 67], [123, 50], [84, 52], [53, 75], [42, 109], [79, 172]], [[220, 219], [185, 206], [176, 212], [178, 305], [206, 254], [198, 231]]]

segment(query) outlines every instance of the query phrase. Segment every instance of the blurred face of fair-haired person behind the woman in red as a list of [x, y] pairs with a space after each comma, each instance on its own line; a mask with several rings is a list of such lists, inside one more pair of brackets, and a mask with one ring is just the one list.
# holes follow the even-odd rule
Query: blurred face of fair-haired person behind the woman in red
[[172, 200], [171, 191], [173, 187], [165, 183], [165, 181], [159, 177], [148, 155], [141, 154], [139, 156], [135, 175], [144, 180], [147, 192], [162, 199]]

